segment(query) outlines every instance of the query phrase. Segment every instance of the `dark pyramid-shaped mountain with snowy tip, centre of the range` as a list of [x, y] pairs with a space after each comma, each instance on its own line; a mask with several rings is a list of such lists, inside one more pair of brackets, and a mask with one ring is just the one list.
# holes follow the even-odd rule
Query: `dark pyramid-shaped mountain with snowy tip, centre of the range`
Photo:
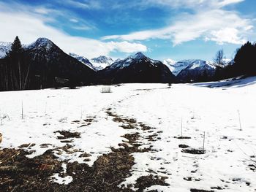
[[176, 77], [161, 61], [154, 61], [143, 53], [115, 61], [98, 72], [103, 82], [174, 82]]

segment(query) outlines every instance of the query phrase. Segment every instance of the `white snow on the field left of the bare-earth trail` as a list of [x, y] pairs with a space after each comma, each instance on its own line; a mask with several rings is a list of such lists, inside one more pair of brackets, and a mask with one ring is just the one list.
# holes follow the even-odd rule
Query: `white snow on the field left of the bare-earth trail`
[[[112, 88], [113, 91], [115, 89], [116, 87]], [[26, 148], [29, 151], [35, 150], [29, 155], [32, 158], [48, 149], [65, 145], [61, 140], [56, 139], [60, 134], [54, 132], [63, 130], [79, 132], [81, 138], [73, 139], [73, 149], [81, 151], [72, 154], [63, 152], [59, 159], [83, 162], [85, 158], [79, 158], [79, 155], [86, 151], [91, 154], [89, 157], [91, 161], [86, 163], [92, 165], [99, 155], [109, 153], [110, 147], [118, 147], [118, 143], [123, 140], [121, 136], [127, 133], [118, 127], [118, 123], [108, 120], [104, 111], [114, 101], [127, 94], [127, 88], [123, 89], [124, 93], [118, 95], [100, 93], [101, 86], [78, 90], [2, 92], [0, 110], [3, 126], [0, 130], [4, 135], [4, 141], [1, 147], [18, 147], [24, 143], [35, 143], [36, 145]], [[22, 103], [24, 119], [21, 118]], [[95, 122], [89, 126], [80, 127], [80, 122], [72, 122], [91, 117]], [[108, 139], [109, 137], [113, 139]], [[45, 143], [50, 145], [40, 147]]]

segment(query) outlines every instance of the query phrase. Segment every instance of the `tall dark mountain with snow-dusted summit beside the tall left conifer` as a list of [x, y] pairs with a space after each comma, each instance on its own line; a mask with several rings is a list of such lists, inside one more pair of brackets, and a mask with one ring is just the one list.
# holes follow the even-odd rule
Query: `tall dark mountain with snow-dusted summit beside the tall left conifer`
[[43, 88], [55, 86], [56, 77], [67, 78], [77, 85], [80, 82], [92, 82], [94, 79], [94, 70], [64, 53], [49, 39], [39, 38], [27, 45], [26, 53], [31, 62], [31, 72], [34, 78], [37, 77], [33, 81], [43, 84]]

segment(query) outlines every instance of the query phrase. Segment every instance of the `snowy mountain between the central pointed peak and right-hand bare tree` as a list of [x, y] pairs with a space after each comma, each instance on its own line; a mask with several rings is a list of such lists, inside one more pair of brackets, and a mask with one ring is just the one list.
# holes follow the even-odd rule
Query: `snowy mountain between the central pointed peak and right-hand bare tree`
[[182, 82], [197, 81], [204, 73], [212, 77], [215, 72], [215, 64], [211, 61], [195, 59], [178, 61], [177, 64], [184, 66], [184, 69], [177, 74], [178, 79]]

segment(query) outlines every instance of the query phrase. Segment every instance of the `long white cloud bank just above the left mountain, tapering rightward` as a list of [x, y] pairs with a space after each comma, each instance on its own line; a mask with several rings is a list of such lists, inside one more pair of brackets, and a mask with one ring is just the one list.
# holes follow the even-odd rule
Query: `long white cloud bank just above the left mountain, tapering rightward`
[[23, 44], [34, 42], [38, 37], [47, 37], [66, 53], [77, 53], [88, 58], [109, 55], [113, 51], [134, 53], [146, 51], [147, 47], [135, 42], [102, 42], [84, 37], [72, 37], [45, 24], [48, 18], [27, 12], [0, 12], [0, 41], [12, 42], [19, 36]]

